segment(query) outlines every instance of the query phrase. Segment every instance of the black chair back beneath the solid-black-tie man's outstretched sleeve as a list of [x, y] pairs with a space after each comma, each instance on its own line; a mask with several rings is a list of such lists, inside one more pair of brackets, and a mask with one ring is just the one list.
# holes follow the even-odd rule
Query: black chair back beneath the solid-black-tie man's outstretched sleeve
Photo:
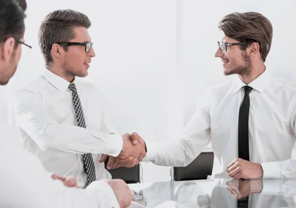
[[186, 167], [171, 167], [171, 181], [202, 180], [212, 174], [214, 153], [203, 151]]

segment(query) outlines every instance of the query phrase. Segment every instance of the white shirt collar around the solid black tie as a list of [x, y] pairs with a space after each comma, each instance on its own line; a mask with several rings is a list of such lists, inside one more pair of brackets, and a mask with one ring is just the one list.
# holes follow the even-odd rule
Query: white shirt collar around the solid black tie
[[[253, 89], [261, 93], [265, 89], [269, 80], [270, 80], [270, 73], [265, 69], [263, 73], [261, 73], [256, 79], [250, 82], [248, 86], [252, 87]], [[238, 75], [235, 78], [235, 81], [236, 81], [235, 92], [238, 92], [239, 89], [241, 89], [243, 86], [246, 86], [246, 84], [239, 78]]]

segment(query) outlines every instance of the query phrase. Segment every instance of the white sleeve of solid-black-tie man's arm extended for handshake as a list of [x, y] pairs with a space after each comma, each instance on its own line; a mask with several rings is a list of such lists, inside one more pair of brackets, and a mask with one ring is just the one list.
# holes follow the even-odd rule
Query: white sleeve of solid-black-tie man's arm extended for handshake
[[187, 166], [210, 143], [210, 90], [196, 105], [196, 111], [183, 130], [181, 139], [156, 141], [145, 139], [147, 155], [143, 161], [161, 166]]

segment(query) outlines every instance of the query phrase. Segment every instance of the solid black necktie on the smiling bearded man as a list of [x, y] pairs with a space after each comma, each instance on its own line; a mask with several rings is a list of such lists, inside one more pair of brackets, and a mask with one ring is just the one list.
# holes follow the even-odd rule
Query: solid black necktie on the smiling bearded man
[[249, 155], [249, 110], [250, 96], [249, 93], [253, 90], [250, 86], [243, 87], [245, 96], [243, 103], [239, 108], [238, 116], [238, 157], [250, 161]]

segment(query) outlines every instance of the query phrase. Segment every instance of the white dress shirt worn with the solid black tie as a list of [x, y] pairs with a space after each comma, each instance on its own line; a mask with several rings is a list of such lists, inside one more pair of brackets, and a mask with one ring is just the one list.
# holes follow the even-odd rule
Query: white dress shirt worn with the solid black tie
[[[145, 140], [147, 156], [162, 166], [186, 166], [212, 142], [215, 178], [229, 177], [226, 167], [238, 157], [238, 114], [246, 84], [239, 76], [209, 88], [184, 128], [181, 139]], [[260, 163], [263, 178], [296, 177], [292, 158], [296, 130], [296, 88], [265, 70], [249, 84], [250, 161]]]

